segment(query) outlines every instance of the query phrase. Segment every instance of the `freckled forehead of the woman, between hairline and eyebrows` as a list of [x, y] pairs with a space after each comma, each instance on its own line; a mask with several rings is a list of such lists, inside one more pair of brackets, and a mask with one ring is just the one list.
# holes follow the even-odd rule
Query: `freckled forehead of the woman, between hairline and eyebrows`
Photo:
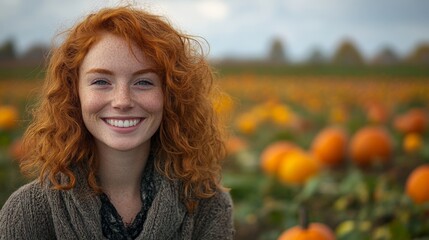
[[135, 43], [130, 44], [122, 37], [110, 33], [102, 33], [81, 64], [83, 71], [88, 68], [127, 70], [149, 67], [153, 67], [153, 62]]

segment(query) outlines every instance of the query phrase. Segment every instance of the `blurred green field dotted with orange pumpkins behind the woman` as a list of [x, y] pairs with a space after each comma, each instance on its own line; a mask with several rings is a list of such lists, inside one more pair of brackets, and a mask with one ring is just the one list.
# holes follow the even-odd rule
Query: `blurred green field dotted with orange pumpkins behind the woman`
[[[427, 76], [240, 72], [215, 83], [235, 239], [429, 238]], [[0, 206], [28, 181], [19, 141], [39, 85], [0, 79]]]

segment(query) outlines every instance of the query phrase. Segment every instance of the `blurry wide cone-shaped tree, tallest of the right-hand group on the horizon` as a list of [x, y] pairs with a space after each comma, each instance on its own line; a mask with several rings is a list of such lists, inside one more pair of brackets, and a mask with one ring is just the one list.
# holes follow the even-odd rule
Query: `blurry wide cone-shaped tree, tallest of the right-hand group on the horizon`
[[362, 65], [364, 60], [359, 50], [351, 40], [343, 40], [338, 46], [332, 59], [337, 65]]

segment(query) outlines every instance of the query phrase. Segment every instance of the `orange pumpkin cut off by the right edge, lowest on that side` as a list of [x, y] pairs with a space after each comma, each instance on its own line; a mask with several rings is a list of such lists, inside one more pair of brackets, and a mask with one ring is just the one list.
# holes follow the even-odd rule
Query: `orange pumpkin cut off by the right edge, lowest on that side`
[[415, 168], [407, 178], [406, 194], [416, 204], [429, 202], [429, 164]]

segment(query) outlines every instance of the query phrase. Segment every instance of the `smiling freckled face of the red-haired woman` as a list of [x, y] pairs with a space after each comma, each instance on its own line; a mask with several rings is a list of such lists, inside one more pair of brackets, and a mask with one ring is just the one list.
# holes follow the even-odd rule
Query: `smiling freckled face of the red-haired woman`
[[79, 69], [82, 116], [99, 150], [148, 147], [162, 120], [161, 79], [135, 45], [103, 34]]

